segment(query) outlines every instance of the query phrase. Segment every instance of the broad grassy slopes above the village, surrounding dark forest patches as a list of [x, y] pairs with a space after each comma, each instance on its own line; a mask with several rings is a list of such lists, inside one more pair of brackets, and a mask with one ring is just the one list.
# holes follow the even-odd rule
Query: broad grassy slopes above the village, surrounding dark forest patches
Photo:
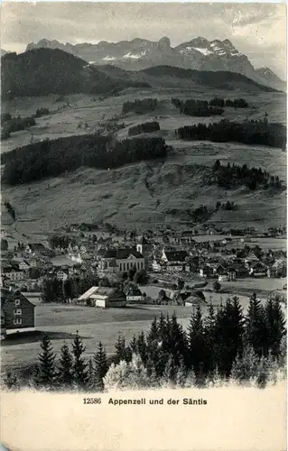
[[[244, 92], [205, 93], [185, 89], [157, 88], [136, 91], [127, 89], [121, 97], [107, 98], [100, 102], [88, 96], [69, 97], [71, 108], [57, 111], [60, 105], [55, 97], [42, 99], [26, 98], [5, 106], [5, 110], [20, 115], [31, 114], [38, 106], [48, 106], [53, 114], [37, 120], [33, 127], [34, 139], [45, 137], [67, 136], [81, 133], [78, 124], [87, 121], [89, 130], [97, 127], [99, 121], [121, 114], [126, 100], [135, 97], [158, 97], [161, 101], [159, 109], [151, 115], [127, 115], [120, 118], [126, 127], [118, 132], [118, 138], [125, 138], [129, 126], [154, 120], [161, 124], [162, 135], [166, 142], [173, 146], [167, 161], [141, 162], [125, 166], [118, 170], [79, 170], [75, 174], [57, 179], [42, 180], [27, 187], [3, 187], [2, 194], [15, 207], [17, 217], [14, 227], [23, 233], [46, 233], [54, 226], [75, 222], [92, 222], [107, 219], [119, 226], [137, 225], [139, 229], [163, 222], [167, 210], [184, 210], [195, 208], [200, 204], [214, 207], [217, 200], [233, 199], [239, 209], [236, 212], [219, 211], [211, 221], [219, 225], [257, 225], [268, 227], [285, 223], [285, 194], [273, 198], [269, 193], [251, 193], [246, 189], [227, 192], [216, 187], [203, 187], [201, 171], [194, 164], [211, 165], [219, 159], [222, 162], [247, 163], [249, 166], [261, 166], [274, 175], [285, 179], [286, 154], [279, 149], [245, 146], [236, 143], [188, 143], [176, 141], [175, 128], [182, 124], [209, 122], [215, 118], [193, 118], [179, 115], [172, 106], [171, 97], [211, 98], [215, 95], [223, 97], [245, 97], [251, 106], [248, 109], [234, 110], [227, 108], [224, 117], [234, 120], [259, 118], [267, 112], [269, 120], [284, 120], [285, 97], [278, 93], [247, 94]], [[253, 108], [252, 106], [255, 106]], [[88, 131], [83, 133], [88, 133]], [[156, 133], [157, 134], [157, 133]], [[18, 145], [29, 143], [31, 132], [12, 133], [10, 140], [3, 142], [3, 151]], [[7, 223], [9, 218], [7, 218]], [[21, 220], [28, 220], [23, 222]], [[177, 214], [167, 216], [168, 221], [187, 220], [189, 217]], [[5, 225], [6, 221], [3, 222]]]

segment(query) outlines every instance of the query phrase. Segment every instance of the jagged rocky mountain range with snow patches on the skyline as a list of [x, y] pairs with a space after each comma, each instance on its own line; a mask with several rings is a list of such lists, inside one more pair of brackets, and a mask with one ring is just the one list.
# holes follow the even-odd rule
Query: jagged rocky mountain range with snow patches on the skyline
[[286, 90], [286, 83], [269, 68], [255, 69], [245, 54], [237, 51], [228, 39], [209, 41], [198, 37], [191, 41], [171, 46], [168, 37], [159, 41], [136, 38], [132, 41], [107, 42], [98, 44], [66, 44], [42, 39], [27, 45], [26, 51], [33, 49], [60, 49], [71, 53], [89, 64], [112, 64], [126, 70], [141, 70], [153, 66], [173, 66], [182, 69], [208, 71], [226, 70], [245, 75], [257, 83]]

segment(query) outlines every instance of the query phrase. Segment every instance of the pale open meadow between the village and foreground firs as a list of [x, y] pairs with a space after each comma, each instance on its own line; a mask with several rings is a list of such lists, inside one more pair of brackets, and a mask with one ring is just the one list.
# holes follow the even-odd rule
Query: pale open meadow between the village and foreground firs
[[[243, 281], [221, 282], [225, 292], [214, 293], [203, 291], [207, 302], [218, 306], [225, 302], [228, 296], [237, 293], [239, 302], [246, 312], [249, 296], [256, 290], [260, 299], [265, 299], [269, 293], [276, 290], [285, 296], [284, 279], [246, 279]], [[154, 317], [159, 317], [161, 312], [172, 315], [176, 313], [183, 327], [188, 327], [192, 307], [175, 306], [129, 306], [127, 308], [88, 308], [75, 305], [43, 304], [40, 300], [33, 299], [35, 308], [35, 328], [37, 332], [33, 336], [7, 337], [2, 342], [2, 365], [20, 368], [37, 359], [40, 351], [40, 340], [46, 332], [52, 341], [55, 352], [60, 352], [63, 342], [71, 343], [76, 331], [82, 337], [86, 346], [86, 356], [89, 358], [97, 349], [101, 341], [107, 353], [114, 352], [117, 336], [121, 333], [128, 343], [134, 335], [141, 331], [146, 332]], [[203, 314], [207, 308], [202, 308]]]

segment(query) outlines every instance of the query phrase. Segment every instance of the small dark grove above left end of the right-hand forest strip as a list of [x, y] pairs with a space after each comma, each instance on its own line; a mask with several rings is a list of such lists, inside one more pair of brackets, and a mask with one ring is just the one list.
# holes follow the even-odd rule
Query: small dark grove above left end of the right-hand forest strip
[[206, 100], [180, 100], [172, 98], [172, 104], [179, 108], [181, 115], [193, 115], [197, 117], [208, 117], [210, 115], [223, 115], [224, 109], [218, 106], [210, 106]]

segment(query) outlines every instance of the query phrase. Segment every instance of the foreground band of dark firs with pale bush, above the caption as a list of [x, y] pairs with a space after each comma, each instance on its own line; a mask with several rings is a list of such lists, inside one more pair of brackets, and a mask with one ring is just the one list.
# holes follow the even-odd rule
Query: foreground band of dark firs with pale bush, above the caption
[[[207, 316], [200, 306], [185, 330], [175, 314], [154, 318], [149, 331], [126, 344], [118, 336], [110, 357], [100, 343], [93, 359], [84, 357], [79, 334], [64, 344], [56, 358], [49, 337], [42, 339], [42, 353], [30, 379], [35, 388], [103, 391], [113, 388], [209, 386], [209, 382], [254, 380], [259, 387], [274, 378], [285, 364], [285, 318], [277, 297], [263, 304], [254, 294], [246, 315], [237, 297], [218, 308], [209, 305]], [[13, 373], [6, 374], [13, 388]]]

